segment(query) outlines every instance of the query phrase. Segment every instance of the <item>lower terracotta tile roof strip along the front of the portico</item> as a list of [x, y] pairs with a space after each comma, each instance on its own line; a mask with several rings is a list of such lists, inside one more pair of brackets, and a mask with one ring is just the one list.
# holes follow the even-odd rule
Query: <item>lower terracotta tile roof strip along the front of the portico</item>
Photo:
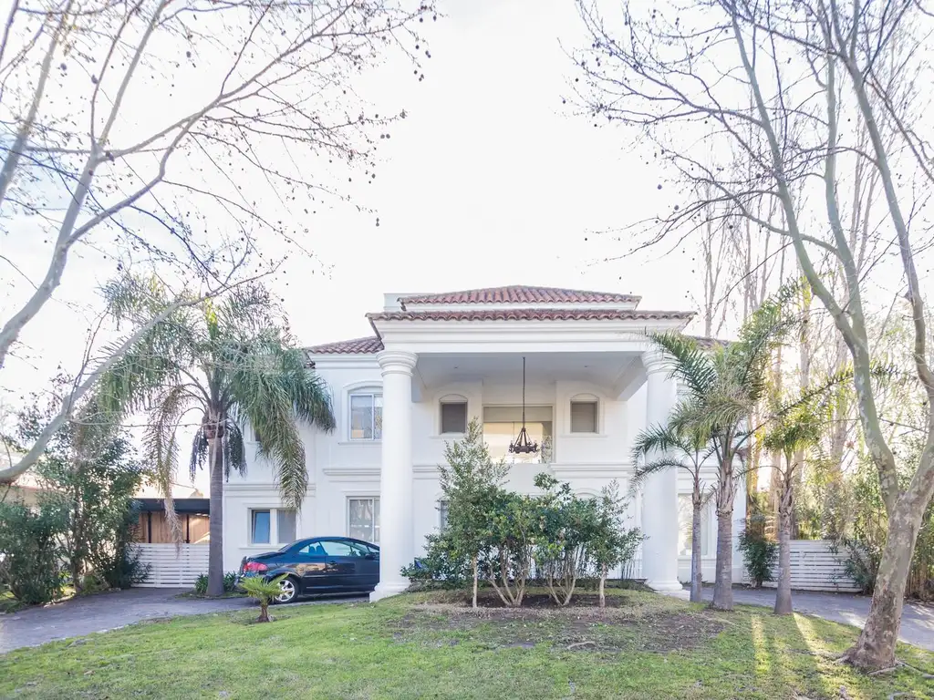
[[367, 314], [373, 321], [604, 321], [688, 319], [692, 311], [623, 309], [502, 309], [485, 311], [391, 311]]

